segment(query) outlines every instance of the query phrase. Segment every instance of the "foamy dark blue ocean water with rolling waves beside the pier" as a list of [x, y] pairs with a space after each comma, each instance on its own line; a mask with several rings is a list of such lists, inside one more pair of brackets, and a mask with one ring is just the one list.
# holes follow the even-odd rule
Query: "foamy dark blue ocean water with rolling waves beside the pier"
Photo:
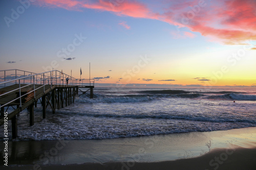
[[[256, 127], [256, 89], [96, 87], [94, 99], [77, 96], [75, 103], [55, 114], [48, 107], [46, 119], [38, 104], [34, 126], [29, 126], [27, 110], [17, 118], [15, 140], [108, 139]], [[11, 128], [11, 138], [10, 132]]]

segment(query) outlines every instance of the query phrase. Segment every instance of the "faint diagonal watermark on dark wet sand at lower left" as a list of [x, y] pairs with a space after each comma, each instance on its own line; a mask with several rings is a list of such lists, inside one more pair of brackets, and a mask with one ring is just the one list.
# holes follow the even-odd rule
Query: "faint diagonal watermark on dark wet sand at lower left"
[[[49, 152], [44, 152], [44, 154], [41, 154], [39, 156], [39, 161], [42, 161], [44, 162], [45, 164], [48, 164], [49, 161], [53, 158], [55, 158], [58, 154], [58, 151], [62, 150], [65, 146], [66, 146], [66, 143], [69, 143], [68, 140], [58, 140], [55, 144], [55, 147], [51, 148], [49, 150]], [[42, 168], [40, 167], [39, 164], [35, 164], [33, 166], [33, 170], [41, 170]], [[31, 169], [32, 170], [32, 169]]]

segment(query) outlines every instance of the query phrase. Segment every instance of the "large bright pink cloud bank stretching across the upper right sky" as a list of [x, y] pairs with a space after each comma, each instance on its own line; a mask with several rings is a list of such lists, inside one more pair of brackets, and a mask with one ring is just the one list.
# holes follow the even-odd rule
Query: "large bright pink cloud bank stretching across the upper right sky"
[[[94, 9], [108, 11], [118, 16], [156, 19], [167, 22], [178, 30], [186, 27], [192, 32], [209, 37], [211, 41], [224, 44], [233, 45], [256, 40], [256, 1], [252, 0], [170, 0], [159, 2], [157, 9], [154, 9], [150, 2], [145, 4], [139, 1], [124, 1], [114, 5], [108, 0], [41, 0], [35, 4], [75, 11]], [[189, 32], [183, 34], [188, 37], [195, 36]]]

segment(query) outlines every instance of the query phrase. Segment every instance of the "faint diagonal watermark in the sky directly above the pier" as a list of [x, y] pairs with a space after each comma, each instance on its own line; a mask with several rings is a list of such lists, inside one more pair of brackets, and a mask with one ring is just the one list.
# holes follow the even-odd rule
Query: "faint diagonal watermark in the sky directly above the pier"
[[[56, 54], [58, 58], [61, 58], [61, 61], [64, 61], [67, 59], [67, 56], [70, 56], [72, 52], [76, 50], [76, 48], [83, 43], [84, 40], [87, 39], [87, 37], [83, 37], [82, 33], [79, 35], [75, 34], [75, 38], [73, 39], [72, 43], [68, 44], [67, 47], [61, 48]], [[69, 58], [71, 59], [71, 58]], [[42, 69], [45, 71], [51, 71], [52, 68], [56, 69], [59, 66], [59, 63], [57, 60], [52, 60], [48, 66], [42, 66]]]

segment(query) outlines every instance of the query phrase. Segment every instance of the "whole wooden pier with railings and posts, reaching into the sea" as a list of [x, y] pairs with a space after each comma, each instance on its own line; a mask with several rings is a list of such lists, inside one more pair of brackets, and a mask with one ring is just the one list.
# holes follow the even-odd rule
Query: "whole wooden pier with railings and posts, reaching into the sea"
[[[55, 72], [54, 72], [55, 71]], [[52, 113], [54, 114], [56, 109], [64, 108], [65, 106], [69, 106], [75, 102], [75, 96], [78, 95], [78, 90], [82, 91], [79, 88], [86, 88], [87, 91], [90, 90], [89, 97], [93, 98], [93, 89], [94, 89], [94, 80], [90, 79], [90, 83], [88, 85], [84, 85], [86, 83], [81, 82], [79, 79], [74, 79], [71, 76], [65, 75], [65, 77], [71, 78], [69, 85], [64, 84], [65, 77], [60, 71], [54, 70], [51, 72], [50, 76], [45, 76], [44, 72], [41, 74], [30, 75], [26, 78], [20, 78], [11, 80], [8, 82], [3, 82], [1, 84], [13, 83], [13, 85], [6, 86], [0, 89], [0, 107], [1, 107], [1, 115], [0, 115], [0, 126], [4, 125], [4, 113], [8, 111], [11, 107], [13, 108], [11, 113], [8, 112], [8, 120], [11, 120], [12, 123], [12, 138], [16, 138], [18, 136], [17, 132], [17, 116], [24, 109], [29, 110], [30, 115], [30, 126], [34, 125], [34, 107], [37, 107], [37, 103], [41, 103], [42, 107], [42, 118], [46, 118], [46, 109], [50, 107], [52, 109]], [[57, 75], [57, 72], [59, 73]], [[55, 74], [53, 74], [55, 73]], [[39, 78], [39, 75], [44, 76], [44, 78]], [[26, 81], [29, 77], [33, 76], [33, 82], [30, 81], [30, 84], [21, 84], [20, 80], [25, 79]], [[35, 80], [36, 76], [36, 80]], [[32, 79], [31, 79], [32, 80]], [[48, 81], [46, 81], [48, 80]], [[49, 81], [50, 80], [50, 81]], [[85, 80], [85, 79], [83, 79]], [[93, 80], [93, 84], [91, 84], [91, 80]], [[18, 82], [18, 83], [17, 83]], [[25, 82], [25, 81], [23, 81]], [[31, 83], [32, 82], [32, 83]], [[41, 83], [44, 82], [44, 83]], [[55, 83], [55, 84], [54, 84]], [[82, 91], [86, 93], [87, 91]]]

